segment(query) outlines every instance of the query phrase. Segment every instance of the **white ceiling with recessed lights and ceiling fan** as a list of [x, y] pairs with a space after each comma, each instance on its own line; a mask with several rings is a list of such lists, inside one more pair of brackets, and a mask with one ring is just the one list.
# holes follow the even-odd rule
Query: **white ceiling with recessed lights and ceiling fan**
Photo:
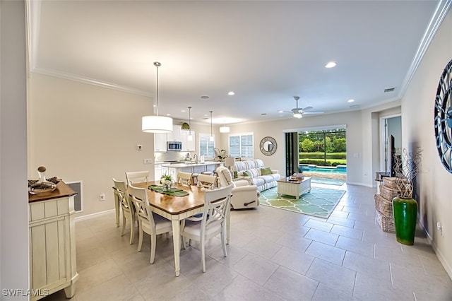
[[295, 95], [314, 111], [358, 110], [400, 98], [438, 4], [30, 0], [30, 60], [35, 72], [150, 97], [160, 61], [160, 115], [188, 119], [191, 106], [193, 122], [210, 110], [214, 124], [293, 118], [278, 110]]

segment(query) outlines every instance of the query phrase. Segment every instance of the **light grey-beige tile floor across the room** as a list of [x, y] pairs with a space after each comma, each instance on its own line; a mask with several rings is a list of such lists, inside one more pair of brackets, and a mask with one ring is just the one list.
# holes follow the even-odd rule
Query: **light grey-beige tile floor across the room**
[[[265, 206], [232, 211], [229, 256], [210, 240], [202, 273], [193, 242], [179, 277], [172, 237], [157, 237], [150, 265], [148, 235], [136, 252], [138, 235], [129, 245], [113, 213], [78, 221], [72, 300], [452, 300], [451, 278], [422, 231], [414, 246], [399, 244], [374, 221], [375, 189], [342, 188], [328, 220]], [[43, 300], [66, 299], [61, 290]]]

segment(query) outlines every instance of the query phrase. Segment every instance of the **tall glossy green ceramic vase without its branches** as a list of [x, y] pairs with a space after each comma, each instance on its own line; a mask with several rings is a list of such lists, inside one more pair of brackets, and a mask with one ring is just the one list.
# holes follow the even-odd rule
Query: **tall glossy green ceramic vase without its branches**
[[400, 244], [415, 243], [417, 222], [417, 201], [396, 196], [393, 199], [394, 226], [396, 238]]

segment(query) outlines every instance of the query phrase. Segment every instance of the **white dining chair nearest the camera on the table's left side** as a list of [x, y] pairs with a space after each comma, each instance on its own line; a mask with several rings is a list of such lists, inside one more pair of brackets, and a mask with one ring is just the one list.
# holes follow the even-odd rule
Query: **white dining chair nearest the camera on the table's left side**
[[145, 188], [133, 187], [129, 185], [131, 199], [135, 204], [135, 210], [138, 216], [138, 252], [141, 252], [143, 244], [143, 232], [150, 235], [150, 260], [153, 264], [155, 259], [155, 244], [157, 243], [157, 235], [169, 233], [172, 231], [171, 221], [162, 218], [158, 214], [153, 214], [150, 210], [148, 201], [148, 193]]

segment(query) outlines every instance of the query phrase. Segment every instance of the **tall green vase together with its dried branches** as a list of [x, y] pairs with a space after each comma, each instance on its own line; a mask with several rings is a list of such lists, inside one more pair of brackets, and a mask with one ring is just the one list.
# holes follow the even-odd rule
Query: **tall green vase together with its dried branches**
[[415, 242], [417, 201], [412, 199], [413, 180], [420, 172], [422, 150], [410, 153], [405, 148], [396, 152], [394, 170], [398, 196], [393, 199], [394, 228], [397, 241], [412, 245]]

